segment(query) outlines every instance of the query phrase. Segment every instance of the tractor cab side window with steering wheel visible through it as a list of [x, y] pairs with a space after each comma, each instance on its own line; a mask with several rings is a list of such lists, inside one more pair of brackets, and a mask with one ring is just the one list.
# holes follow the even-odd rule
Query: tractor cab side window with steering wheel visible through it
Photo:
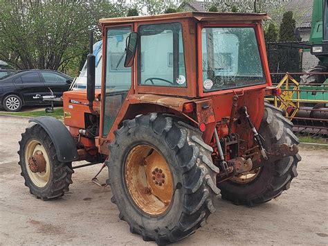
[[143, 25], [138, 33], [138, 83], [187, 87], [181, 24]]

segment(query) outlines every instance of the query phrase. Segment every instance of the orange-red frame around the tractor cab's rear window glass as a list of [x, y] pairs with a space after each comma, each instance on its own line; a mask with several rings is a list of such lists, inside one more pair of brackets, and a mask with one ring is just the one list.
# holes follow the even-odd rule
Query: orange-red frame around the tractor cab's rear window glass
[[[202, 30], [203, 28], [253, 28], [255, 32], [255, 38], [257, 40], [257, 48], [259, 50], [259, 59], [261, 61], [262, 71], [263, 71], [263, 78], [264, 82], [257, 83], [253, 85], [242, 85], [240, 87], [233, 87], [229, 89], [221, 89], [217, 91], [204, 91], [203, 89], [203, 52], [202, 52]], [[247, 90], [253, 89], [262, 89], [267, 86], [271, 86], [271, 78], [270, 72], [268, 71], [268, 62], [266, 58], [266, 50], [264, 45], [264, 36], [261, 31], [260, 24], [204, 24], [199, 23], [197, 24], [197, 39], [198, 39], [198, 47], [197, 47], [197, 56], [198, 56], [198, 87], [199, 87], [199, 95], [200, 96], [212, 96], [217, 94], [227, 94], [227, 93], [244, 93]]]

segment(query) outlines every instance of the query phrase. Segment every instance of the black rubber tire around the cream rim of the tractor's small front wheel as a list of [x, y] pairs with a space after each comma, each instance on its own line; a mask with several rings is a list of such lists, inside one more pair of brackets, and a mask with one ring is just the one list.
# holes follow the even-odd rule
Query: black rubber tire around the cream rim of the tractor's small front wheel
[[[42, 144], [46, 149], [48, 157], [51, 159], [51, 176], [48, 183], [44, 187], [36, 186], [28, 175], [25, 163], [25, 147], [28, 141], [35, 139]], [[72, 184], [72, 169], [71, 162], [60, 162], [57, 159], [55, 146], [51, 141], [44, 128], [41, 125], [35, 124], [30, 128], [26, 128], [26, 132], [21, 134], [21, 141], [19, 141], [19, 166], [21, 166], [21, 176], [25, 179], [25, 186], [30, 188], [30, 193], [42, 200], [53, 200], [61, 197], [65, 192], [69, 191], [69, 185]]]

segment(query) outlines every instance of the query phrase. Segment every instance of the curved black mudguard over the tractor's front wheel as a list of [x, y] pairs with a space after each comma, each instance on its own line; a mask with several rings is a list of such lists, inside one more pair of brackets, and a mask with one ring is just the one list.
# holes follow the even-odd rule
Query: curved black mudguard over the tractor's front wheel
[[78, 160], [78, 150], [73, 141], [73, 137], [66, 126], [58, 121], [57, 118], [41, 116], [30, 119], [28, 122], [35, 122], [46, 130], [55, 146], [58, 161], [71, 162]]

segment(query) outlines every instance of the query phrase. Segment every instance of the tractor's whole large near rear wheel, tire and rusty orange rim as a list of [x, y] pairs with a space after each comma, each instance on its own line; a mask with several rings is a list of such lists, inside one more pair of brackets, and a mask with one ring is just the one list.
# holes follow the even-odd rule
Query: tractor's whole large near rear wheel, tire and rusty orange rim
[[215, 211], [212, 198], [219, 193], [219, 169], [201, 132], [152, 113], [125, 121], [114, 133], [107, 161], [109, 184], [112, 202], [130, 231], [163, 245], [204, 225]]

